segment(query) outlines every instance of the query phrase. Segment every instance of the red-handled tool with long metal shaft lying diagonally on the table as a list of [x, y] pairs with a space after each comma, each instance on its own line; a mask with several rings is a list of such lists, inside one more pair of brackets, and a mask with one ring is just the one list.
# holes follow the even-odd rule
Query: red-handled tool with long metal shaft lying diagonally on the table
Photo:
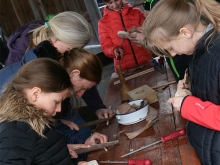
[[180, 130], [177, 130], [177, 131], [175, 131], [175, 132], [172, 132], [172, 133], [168, 134], [167, 136], [162, 136], [162, 137], [161, 137], [161, 140], [159, 140], [159, 141], [156, 141], [156, 142], [151, 143], [151, 144], [149, 144], [149, 145], [147, 145], [147, 146], [143, 146], [143, 147], [141, 147], [141, 148], [139, 148], [139, 149], [137, 149], [137, 150], [134, 150], [134, 151], [131, 151], [131, 152], [125, 154], [125, 155], [122, 155], [121, 158], [123, 158], [123, 157], [125, 157], [125, 156], [128, 156], [128, 155], [131, 155], [131, 154], [133, 154], [133, 153], [135, 153], [135, 152], [141, 151], [141, 150], [143, 150], [143, 149], [145, 149], [145, 148], [148, 148], [148, 147], [153, 146], [153, 145], [155, 145], [155, 144], [158, 144], [158, 143], [160, 143], [160, 142], [165, 143], [165, 142], [167, 142], [167, 141], [174, 140], [174, 139], [176, 139], [176, 138], [178, 138], [178, 137], [180, 137], [180, 136], [183, 136], [183, 135], [185, 135], [185, 134], [186, 134], [186, 130], [185, 130], [184, 128], [182, 128], [182, 129], [180, 129]]

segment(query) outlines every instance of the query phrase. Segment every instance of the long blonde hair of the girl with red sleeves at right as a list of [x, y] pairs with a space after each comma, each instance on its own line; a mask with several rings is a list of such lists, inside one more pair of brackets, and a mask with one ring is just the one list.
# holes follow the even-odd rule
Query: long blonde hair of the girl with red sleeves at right
[[[196, 27], [212, 24], [211, 38], [220, 31], [220, 4], [215, 0], [160, 0], [150, 11], [143, 23], [146, 46], [157, 55], [166, 51], [154, 46], [158, 42], [167, 42], [179, 34], [187, 24]], [[160, 32], [158, 33], [158, 29]]]

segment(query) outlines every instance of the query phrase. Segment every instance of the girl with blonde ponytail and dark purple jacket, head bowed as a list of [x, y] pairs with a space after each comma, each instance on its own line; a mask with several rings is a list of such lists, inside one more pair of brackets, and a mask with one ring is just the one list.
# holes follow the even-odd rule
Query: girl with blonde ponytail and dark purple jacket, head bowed
[[93, 37], [93, 29], [83, 16], [66, 11], [49, 21], [36, 20], [18, 28], [10, 36], [9, 55], [5, 65], [20, 61], [25, 52], [40, 42], [49, 40], [60, 53], [84, 47]]

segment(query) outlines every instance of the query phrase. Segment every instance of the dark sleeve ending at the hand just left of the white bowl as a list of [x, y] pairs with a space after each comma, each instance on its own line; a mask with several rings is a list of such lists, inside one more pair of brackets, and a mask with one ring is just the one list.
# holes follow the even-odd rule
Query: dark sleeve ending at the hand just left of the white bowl
[[82, 99], [85, 101], [89, 109], [94, 112], [99, 109], [106, 109], [106, 106], [104, 105], [96, 86], [93, 86], [92, 88], [87, 90], [83, 94]]

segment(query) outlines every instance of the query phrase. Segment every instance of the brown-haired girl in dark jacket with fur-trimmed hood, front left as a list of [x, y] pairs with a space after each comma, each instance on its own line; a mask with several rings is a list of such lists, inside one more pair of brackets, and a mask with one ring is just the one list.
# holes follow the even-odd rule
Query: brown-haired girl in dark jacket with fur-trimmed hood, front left
[[53, 129], [70, 90], [69, 75], [55, 60], [36, 59], [21, 68], [0, 97], [0, 164], [72, 164]]

